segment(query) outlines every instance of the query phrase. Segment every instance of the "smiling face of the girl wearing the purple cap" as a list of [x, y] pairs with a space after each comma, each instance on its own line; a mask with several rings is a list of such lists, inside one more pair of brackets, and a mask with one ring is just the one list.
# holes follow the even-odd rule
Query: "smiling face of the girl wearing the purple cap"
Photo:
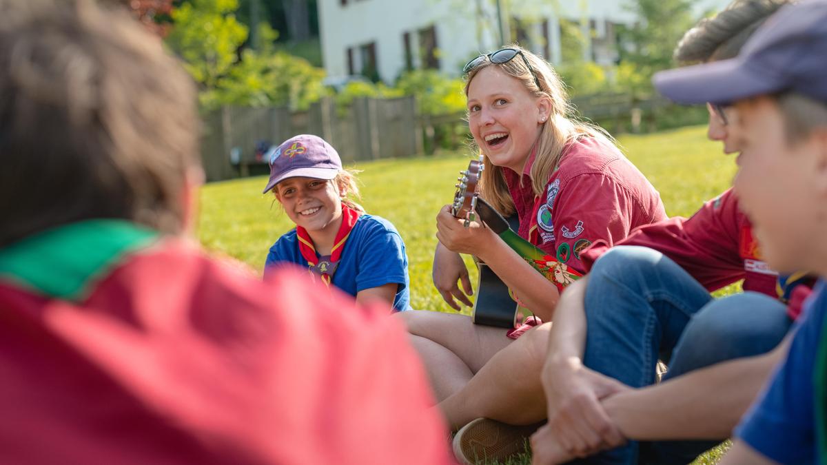
[[288, 178], [275, 185], [276, 196], [293, 223], [313, 235], [335, 234], [342, 219], [342, 197], [335, 180]]

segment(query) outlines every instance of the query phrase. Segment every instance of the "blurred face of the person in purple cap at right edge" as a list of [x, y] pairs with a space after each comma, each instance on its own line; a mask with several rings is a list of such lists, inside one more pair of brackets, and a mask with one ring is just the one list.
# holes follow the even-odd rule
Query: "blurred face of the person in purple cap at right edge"
[[815, 133], [790, 142], [774, 99], [738, 104], [739, 172], [734, 188], [762, 256], [781, 272], [824, 271], [827, 143]]

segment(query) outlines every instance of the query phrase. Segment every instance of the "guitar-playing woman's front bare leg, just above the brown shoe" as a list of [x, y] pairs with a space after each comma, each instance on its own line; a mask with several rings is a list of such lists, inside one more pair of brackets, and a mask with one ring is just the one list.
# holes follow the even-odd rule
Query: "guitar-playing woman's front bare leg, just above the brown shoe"
[[465, 386], [439, 403], [452, 429], [485, 417], [508, 424], [533, 424], [546, 418], [540, 382], [551, 324], [523, 334], [496, 352]]

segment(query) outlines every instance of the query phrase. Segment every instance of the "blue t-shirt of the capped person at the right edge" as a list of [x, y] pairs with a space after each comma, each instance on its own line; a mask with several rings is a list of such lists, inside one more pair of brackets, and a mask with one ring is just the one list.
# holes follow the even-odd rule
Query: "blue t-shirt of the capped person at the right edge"
[[778, 463], [818, 463], [815, 357], [825, 314], [827, 291], [819, 280], [796, 322], [786, 360], [735, 429], [735, 436]]

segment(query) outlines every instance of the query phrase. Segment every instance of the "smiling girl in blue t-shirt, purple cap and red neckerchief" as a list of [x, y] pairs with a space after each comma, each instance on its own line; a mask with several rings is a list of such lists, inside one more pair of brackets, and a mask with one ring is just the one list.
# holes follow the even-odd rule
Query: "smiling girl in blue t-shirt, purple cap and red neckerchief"
[[388, 220], [347, 199], [359, 190], [337, 151], [320, 137], [302, 134], [267, 156], [270, 180], [264, 193], [273, 190], [296, 228], [270, 247], [265, 278], [271, 266], [296, 263], [356, 302], [380, 299], [392, 303], [394, 311], [409, 309], [402, 237]]

